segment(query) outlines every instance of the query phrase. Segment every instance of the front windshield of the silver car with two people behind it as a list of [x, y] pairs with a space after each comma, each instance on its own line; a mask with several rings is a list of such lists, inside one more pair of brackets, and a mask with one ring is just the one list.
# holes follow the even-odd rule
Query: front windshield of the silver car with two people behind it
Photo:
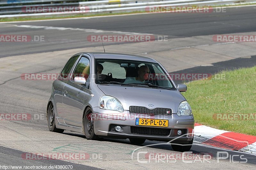
[[168, 74], [158, 63], [97, 59], [95, 62], [97, 84], [120, 84], [174, 90]]

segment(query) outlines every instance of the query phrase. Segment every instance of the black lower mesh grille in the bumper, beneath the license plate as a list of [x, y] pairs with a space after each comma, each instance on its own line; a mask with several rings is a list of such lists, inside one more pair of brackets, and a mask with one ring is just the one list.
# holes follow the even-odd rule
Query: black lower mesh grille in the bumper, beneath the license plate
[[138, 134], [138, 135], [168, 136], [171, 132], [171, 129], [131, 126], [131, 132], [132, 134]]

